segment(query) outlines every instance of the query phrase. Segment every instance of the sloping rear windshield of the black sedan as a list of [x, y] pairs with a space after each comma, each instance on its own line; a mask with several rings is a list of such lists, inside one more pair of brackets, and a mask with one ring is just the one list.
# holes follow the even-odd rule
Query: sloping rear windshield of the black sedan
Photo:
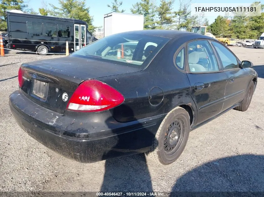
[[115, 34], [97, 40], [71, 55], [144, 69], [169, 40], [150, 35]]

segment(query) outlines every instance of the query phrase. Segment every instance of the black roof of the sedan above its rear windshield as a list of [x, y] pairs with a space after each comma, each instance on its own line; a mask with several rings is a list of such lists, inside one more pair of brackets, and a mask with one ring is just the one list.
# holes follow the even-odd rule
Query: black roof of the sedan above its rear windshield
[[137, 30], [137, 31], [127, 31], [124, 33], [153, 35], [153, 36], [159, 36], [159, 37], [165, 37], [165, 38], [173, 38], [175, 36], [192, 36], [195, 38], [208, 38], [209, 37], [209, 36], [202, 35], [202, 34], [192, 33], [188, 31], [179, 31], [179, 30]]

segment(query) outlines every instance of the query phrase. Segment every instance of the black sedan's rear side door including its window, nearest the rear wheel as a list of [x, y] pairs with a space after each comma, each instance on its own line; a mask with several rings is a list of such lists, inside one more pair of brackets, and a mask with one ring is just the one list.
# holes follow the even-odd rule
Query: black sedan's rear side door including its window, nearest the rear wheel
[[219, 114], [224, 104], [227, 75], [207, 40], [196, 40], [187, 46], [187, 76], [198, 117], [196, 124]]

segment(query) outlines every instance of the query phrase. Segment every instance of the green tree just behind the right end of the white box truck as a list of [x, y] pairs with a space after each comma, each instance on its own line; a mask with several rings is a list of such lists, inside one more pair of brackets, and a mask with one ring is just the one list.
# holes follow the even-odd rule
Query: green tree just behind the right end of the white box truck
[[141, 14], [144, 16], [144, 29], [156, 28], [156, 3], [152, 0], [141, 0], [132, 5], [130, 11], [133, 14]]

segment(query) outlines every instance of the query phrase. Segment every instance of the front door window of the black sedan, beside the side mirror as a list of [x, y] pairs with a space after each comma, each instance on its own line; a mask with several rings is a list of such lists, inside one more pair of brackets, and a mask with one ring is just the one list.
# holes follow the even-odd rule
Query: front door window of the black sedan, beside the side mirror
[[217, 42], [212, 42], [212, 45], [220, 57], [224, 70], [239, 68], [237, 58], [226, 47]]

